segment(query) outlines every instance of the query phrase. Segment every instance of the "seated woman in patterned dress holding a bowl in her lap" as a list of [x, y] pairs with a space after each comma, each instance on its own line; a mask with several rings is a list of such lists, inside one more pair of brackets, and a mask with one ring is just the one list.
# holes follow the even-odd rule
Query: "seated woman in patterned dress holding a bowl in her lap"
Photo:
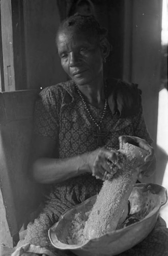
[[[143, 166], [139, 166], [139, 174], [148, 176], [153, 172], [155, 157], [149, 145], [152, 140], [142, 106], [137, 104], [140, 102], [137, 87], [103, 77], [103, 61], [110, 50], [105, 35], [106, 30], [92, 16], [71, 16], [59, 28], [58, 53], [71, 80], [40, 93], [35, 109], [32, 165], [36, 181], [53, 185], [43, 212], [27, 226], [26, 237], [18, 244], [22, 247], [14, 255], [30, 255], [30, 252], [67, 255], [50, 244], [48, 229], [66, 209], [98, 193], [105, 174], [110, 175], [107, 159], [118, 161], [120, 136], [125, 135], [125, 141], [149, 152]], [[116, 150], [111, 152], [108, 147]], [[150, 246], [152, 239], [147, 238]], [[162, 243], [164, 239], [162, 236]], [[155, 255], [146, 247], [146, 242], [142, 242], [121, 255]], [[155, 252], [157, 247], [155, 244], [153, 247]]]

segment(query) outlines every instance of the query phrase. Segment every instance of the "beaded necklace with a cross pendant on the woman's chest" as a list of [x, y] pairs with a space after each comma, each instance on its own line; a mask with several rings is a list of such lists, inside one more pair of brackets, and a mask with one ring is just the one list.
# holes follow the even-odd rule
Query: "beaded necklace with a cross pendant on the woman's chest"
[[[105, 102], [104, 102], [104, 109], [103, 109], [103, 113], [102, 113], [102, 115], [101, 115], [101, 118], [100, 118], [100, 120], [97, 122], [97, 121], [95, 120], [95, 118], [92, 116], [91, 111], [89, 110], [89, 108], [88, 108], [88, 106], [87, 106], [87, 103], [86, 103], [85, 99], [83, 98], [81, 92], [79, 91], [79, 89], [78, 89], [76, 83], [75, 83], [75, 87], [76, 87], [77, 93], [78, 93], [78, 95], [79, 95], [79, 97], [80, 97], [80, 99], [81, 99], [81, 101], [82, 101], [82, 103], [83, 103], [83, 106], [85, 107], [85, 109], [86, 109], [86, 111], [87, 111], [87, 113], [88, 113], [90, 119], [91, 119], [92, 122], [96, 125], [96, 131], [95, 131], [95, 129], [93, 129], [93, 131], [92, 131], [92, 137], [93, 137], [94, 139], [97, 139], [97, 146], [102, 146], [102, 145], [104, 144], [102, 138], [106, 136], [106, 133], [101, 130], [101, 124], [102, 124], [102, 121], [103, 121], [103, 119], [104, 119], [104, 117], [105, 117], [106, 110], [107, 110], [107, 98], [105, 99]], [[105, 88], [105, 89], [106, 89], [106, 88]]]

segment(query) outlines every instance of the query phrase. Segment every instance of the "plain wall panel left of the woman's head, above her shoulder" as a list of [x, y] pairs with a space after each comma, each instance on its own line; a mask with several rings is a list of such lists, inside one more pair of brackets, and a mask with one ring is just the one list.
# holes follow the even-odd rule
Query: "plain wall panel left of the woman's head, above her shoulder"
[[23, 0], [27, 89], [66, 81], [55, 47], [60, 14], [55, 0]]

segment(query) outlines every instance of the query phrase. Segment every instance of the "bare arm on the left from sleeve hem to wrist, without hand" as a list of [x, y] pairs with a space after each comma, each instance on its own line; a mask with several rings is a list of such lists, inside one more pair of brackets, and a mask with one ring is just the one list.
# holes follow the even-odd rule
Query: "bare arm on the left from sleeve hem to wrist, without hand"
[[39, 183], [55, 183], [85, 173], [87, 171], [85, 157], [67, 159], [54, 158], [57, 151], [55, 141], [42, 136], [34, 139], [32, 172]]

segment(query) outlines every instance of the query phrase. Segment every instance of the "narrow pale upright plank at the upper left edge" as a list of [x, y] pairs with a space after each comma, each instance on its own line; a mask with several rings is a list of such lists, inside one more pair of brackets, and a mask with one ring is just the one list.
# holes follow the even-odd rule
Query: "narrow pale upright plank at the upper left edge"
[[5, 91], [15, 90], [11, 0], [1, 0], [2, 46]]

